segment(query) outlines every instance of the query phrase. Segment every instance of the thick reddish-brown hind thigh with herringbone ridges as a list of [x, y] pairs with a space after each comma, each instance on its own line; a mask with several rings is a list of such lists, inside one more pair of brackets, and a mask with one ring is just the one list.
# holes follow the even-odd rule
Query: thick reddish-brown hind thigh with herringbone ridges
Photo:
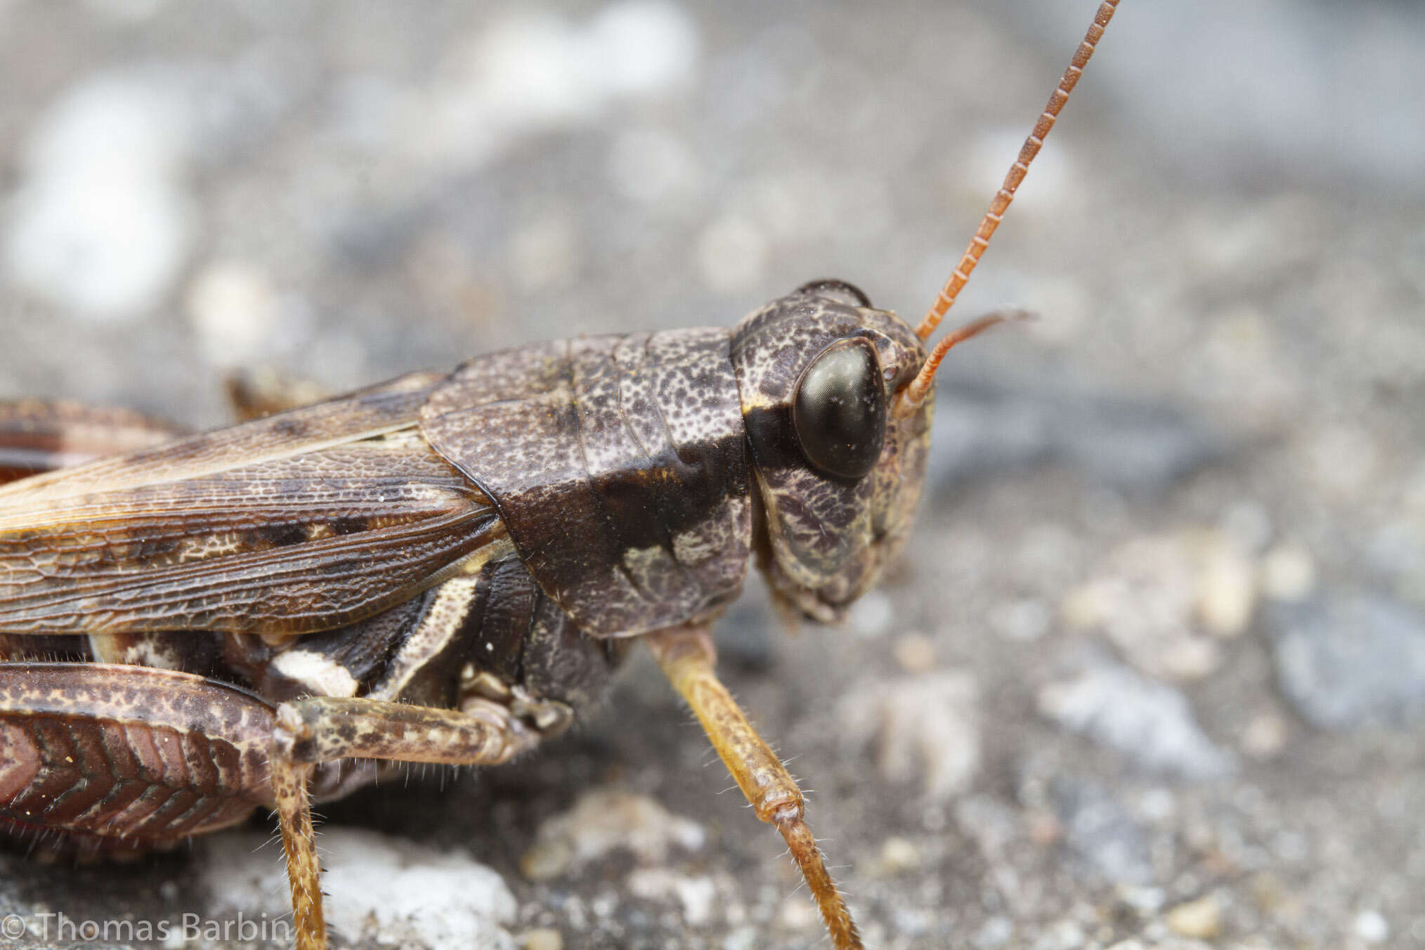
[[239, 823], [268, 803], [275, 711], [192, 674], [0, 664], [0, 832], [123, 857]]

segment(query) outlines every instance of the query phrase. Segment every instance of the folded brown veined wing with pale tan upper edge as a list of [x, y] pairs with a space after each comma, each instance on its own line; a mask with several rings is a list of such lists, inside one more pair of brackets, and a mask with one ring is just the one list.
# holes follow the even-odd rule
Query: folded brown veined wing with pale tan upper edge
[[437, 379], [0, 489], [0, 632], [302, 634], [412, 597], [503, 537], [415, 429]]

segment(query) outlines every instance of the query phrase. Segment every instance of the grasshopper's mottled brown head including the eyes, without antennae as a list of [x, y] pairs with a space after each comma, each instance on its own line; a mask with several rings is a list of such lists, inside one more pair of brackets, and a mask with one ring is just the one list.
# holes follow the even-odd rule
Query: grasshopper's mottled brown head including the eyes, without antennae
[[760, 563], [778, 600], [812, 620], [841, 620], [909, 531], [933, 400], [889, 407], [925, 356], [899, 316], [836, 281], [808, 283], [734, 330]]

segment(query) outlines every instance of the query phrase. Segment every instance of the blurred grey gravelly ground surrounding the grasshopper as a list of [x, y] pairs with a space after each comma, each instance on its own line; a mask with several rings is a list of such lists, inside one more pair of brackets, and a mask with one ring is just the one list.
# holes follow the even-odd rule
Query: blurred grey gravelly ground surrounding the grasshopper
[[[818, 276], [916, 315], [1093, 9], [0, 0], [0, 396], [214, 426], [237, 367]], [[1425, 944], [1422, 44], [1406, 0], [1127, 0], [956, 308], [1042, 319], [942, 372], [905, 564], [844, 628], [725, 624], [871, 946]], [[824, 946], [708, 762], [634, 664], [536, 759], [329, 806], [332, 916]], [[265, 837], [3, 857], [0, 909], [279, 914]]]

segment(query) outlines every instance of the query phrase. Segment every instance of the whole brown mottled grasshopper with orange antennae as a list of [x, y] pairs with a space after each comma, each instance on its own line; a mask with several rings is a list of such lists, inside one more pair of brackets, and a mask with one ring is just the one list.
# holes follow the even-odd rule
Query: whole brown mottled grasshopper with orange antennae
[[1002, 318], [923, 340], [1116, 3], [916, 329], [819, 281], [731, 332], [527, 346], [205, 434], [0, 404], [0, 833], [121, 856], [272, 808], [298, 944], [322, 947], [311, 796], [532, 749], [641, 638], [859, 947], [710, 628], [754, 555], [834, 621], [899, 550], [935, 370]]

